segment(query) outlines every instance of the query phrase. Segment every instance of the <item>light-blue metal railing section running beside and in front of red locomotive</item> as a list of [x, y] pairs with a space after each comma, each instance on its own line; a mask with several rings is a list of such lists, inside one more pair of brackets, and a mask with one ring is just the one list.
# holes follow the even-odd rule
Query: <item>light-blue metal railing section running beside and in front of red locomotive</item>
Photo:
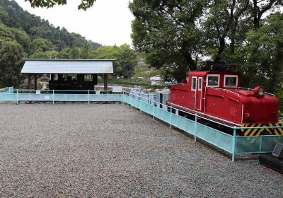
[[[143, 100], [141, 100], [143, 99]], [[147, 102], [144, 100], [148, 100]], [[221, 122], [216, 122], [215, 120], [210, 120], [207, 117], [202, 117], [197, 115], [197, 113], [185, 112], [175, 107], [167, 106], [168, 110], [160, 108], [160, 105], [154, 100], [149, 100], [147, 98], [142, 98], [139, 95], [134, 95], [132, 93], [124, 92], [123, 101], [132, 107], [136, 107], [139, 110], [148, 113], [153, 118], [158, 118], [163, 122], [170, 124], [170, 127], [177, 127], [188, 134], [194, 136], [195, 141], [200, 138], [209, 144], [212, 144], [222, 150], [231, 153], [232, 162], [235, 161], [236, 155], [239, 154], [250, 154], [250, 153], [271, 153], [277, 142], [283, 143], [283, 135], [262, 135], [262, 136], [237, 136], [236, 131], [241, 129], [260, 129], [261, 127], [231, 127], [229, 125], [223, 124]], [[188, 115], [194, 117], [193, 120], [187, 119], [173, 112], [184, 112]], [[230, 129], [231, 132], [221, 132], [212, 127], [208, 127], [200, 122], [197, 122], [197, 118], [202, 118], [203, 120], [209, 120], [216, 124], [220, 124], [226, 129]], [[265, 127], [267, 129], [275, 129], [282, 127]], [[230, 134], [229, 134], [230, 133]]]

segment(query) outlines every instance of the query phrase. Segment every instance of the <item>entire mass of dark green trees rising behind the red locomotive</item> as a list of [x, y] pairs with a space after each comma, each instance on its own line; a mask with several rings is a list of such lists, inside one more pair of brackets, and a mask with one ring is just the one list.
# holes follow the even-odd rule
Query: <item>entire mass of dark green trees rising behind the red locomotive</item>
[[236, 64], [243, 86], [281, 86], [281, 0], [134, 0], [129, 8], [134, 48], [168, 80], [210, 59]]

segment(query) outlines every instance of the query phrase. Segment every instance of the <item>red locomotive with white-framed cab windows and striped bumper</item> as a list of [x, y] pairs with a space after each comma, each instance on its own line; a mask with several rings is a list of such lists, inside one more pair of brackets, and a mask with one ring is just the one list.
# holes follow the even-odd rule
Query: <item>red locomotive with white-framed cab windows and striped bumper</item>
[[[230, 126], [262, 127], [242, 129], [246, 136], [283, 134], [282, 129], [264, 128], [279, 126], [275, 95], [264, 92], [261, 86], [241, 88], [241, 75], [227, 70], [224, 64], [209, 62], [202, 66], [202, 71], [188, 72], [185, 83], [171, 87], [167, 105]], [[209, 124], [203, 119], [199, 122]]]

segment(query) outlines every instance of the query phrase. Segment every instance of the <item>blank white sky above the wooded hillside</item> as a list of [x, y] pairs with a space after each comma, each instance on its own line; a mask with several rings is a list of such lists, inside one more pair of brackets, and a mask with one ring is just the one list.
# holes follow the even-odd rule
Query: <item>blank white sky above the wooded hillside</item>
[[47, 19], [55, 27], [79, 33], [88, 40], [102, 45], [132, 44], [129, 0], [96, 0], [87, 11], [78, 10], [79, 0], [68, 0], [67, 5], [53, 8], [32, 8], [24, 0], [16, 2], [29, 13]]

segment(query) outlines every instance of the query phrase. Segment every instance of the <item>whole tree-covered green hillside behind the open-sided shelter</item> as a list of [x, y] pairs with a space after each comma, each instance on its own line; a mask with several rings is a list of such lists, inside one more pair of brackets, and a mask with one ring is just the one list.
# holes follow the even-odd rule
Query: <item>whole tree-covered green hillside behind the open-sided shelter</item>
[[0, 87], [21, 85], [23, 58], [115, 59], [113, 78], [132, 77], [138, 62], [129, 45], [102, 46], [0, 0]]

